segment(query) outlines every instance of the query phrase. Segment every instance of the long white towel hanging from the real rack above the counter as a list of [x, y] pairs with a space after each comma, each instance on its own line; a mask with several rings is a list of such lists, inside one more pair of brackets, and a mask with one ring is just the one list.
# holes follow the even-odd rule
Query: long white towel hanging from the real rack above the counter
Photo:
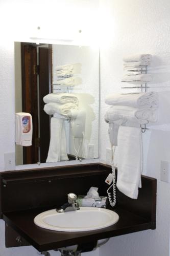
[[126, 196], [137, 199], [141, 186], [142, 140], [141, 129], [120, 126], [118, 131], [118, 162], [116, 186]]

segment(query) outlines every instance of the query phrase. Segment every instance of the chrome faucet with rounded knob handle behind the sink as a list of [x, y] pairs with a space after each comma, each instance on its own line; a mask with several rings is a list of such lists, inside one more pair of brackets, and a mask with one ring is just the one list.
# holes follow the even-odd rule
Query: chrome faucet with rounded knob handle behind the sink
[[72, 210], [79, 210], [79, 204], [76, 203], [77, 196], [74, 193], [69, 193], [68, 195], [68, 203], [65, 203], [61, 206], [60, 209], [56, 209], [57, 212], [65, 212]]

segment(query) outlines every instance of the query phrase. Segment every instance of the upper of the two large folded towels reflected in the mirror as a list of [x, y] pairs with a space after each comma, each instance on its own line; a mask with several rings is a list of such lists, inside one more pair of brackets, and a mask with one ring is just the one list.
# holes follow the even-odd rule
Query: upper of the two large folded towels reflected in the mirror
[[60, 104], [64, 104], [70, 102], [76, 105], [79, 104], [77, 95], [72, 93], [50, 93], [43, 97], [43, 101], [44, 103], [57, 102]]

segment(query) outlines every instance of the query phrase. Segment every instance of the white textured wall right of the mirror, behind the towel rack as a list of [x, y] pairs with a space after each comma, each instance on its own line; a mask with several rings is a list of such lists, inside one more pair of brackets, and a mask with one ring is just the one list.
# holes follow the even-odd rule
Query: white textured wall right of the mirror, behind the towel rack
[[[169, 93], [170, 2], [168, 0], [103, 0], [102, 4], [105, 27], [109, 27], [105, 41], [107, 47], [103, 46], [101, 49], [100, 131], [101, 160], [104, 162], [106, 147], [110, 147], [109, 139], [106, 139], [108, 126], [104, 122], [104, 113], [108, 106], [104, 103], [104, 99], [110, 93], [124, 92], [120, 89], [123, 75], [122, 58], [137, 53], [151, 53], [153, 63], [148, 72], [154, 75], [151, 87], [155, 91], [166, 90]], [[143, 173], [158, 180], [157, 229], [112, 238], [101, 247], [101, 256], [104, 254], [107, 256], [169, 255], [170, 189], [169, 183], [160, 181], [160, 160], [170, 161], [169, 111], [164, 108], [161, 116], [164, 124], [155, 125], [152, 127], [155, 130], [143, 134]]]

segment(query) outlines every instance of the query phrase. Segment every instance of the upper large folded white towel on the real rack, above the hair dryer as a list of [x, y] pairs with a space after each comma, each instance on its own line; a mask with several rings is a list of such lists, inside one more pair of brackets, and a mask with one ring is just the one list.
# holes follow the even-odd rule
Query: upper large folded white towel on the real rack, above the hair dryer
[[111, 94], [106, 97], [105, 103], [109, 105], [127, 105], [139, 108], [141, 106], [148, 108], [158, 108], [158, 93], [148, 92], [139, 94]]

